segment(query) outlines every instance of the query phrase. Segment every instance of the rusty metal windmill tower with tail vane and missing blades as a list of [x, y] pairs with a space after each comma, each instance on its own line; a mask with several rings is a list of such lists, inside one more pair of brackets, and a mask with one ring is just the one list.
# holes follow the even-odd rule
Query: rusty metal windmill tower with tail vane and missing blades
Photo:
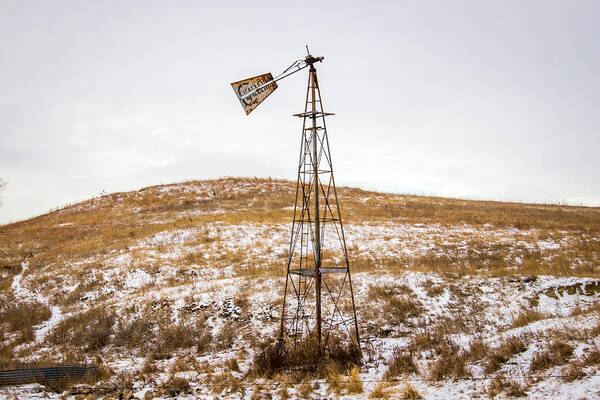
[[319, 353], [344, 337], [360, 348], [350, 261], [325, 112], [315, 64], [324, 57], [307, 56], [281, 74], [271, 73], [231, 84], [246, 114], [277, 89], [277, 82], [308, 68], [302, 120], [296, 200], [287, 257], [287, 274], [279, 327], [279, 343], [297, 346], [315, 340]]

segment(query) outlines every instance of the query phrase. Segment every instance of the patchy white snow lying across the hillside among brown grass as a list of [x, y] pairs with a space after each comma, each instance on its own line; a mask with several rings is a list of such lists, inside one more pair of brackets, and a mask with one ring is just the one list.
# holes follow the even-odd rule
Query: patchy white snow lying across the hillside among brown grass
[[[250, 189], [243, 187], [239, 190]], [[172, 190], [170, 187], [160, 190]], [[160, 192], [159, 190], [159, 192]], [[198, 195], [212, 198], [215, 194], [206, 185], [188, 185], [186, 190], [195, 191]], [[100, 198], [99, 201], [106, 199]], [[368, 201], [369, 198], [363, 199]], [[285, 256], [286, 243], [289, 239], [291, 224], [245, 224], [229, 225], [223, 223], [207, 224], [202, 229], [190, 228], [174, 231], [163, 231], [142, 238], [128, 250], [97, 256], [73, 265], [74, 271], [86, 268], [92, 262], [100, 262], [94, 266], [86, 281], [78, 281], [75, 275], [63, 278], [63, 290], [73, 292], [79, 285], [97, 279], [99, 274], [102, 285], [92, 287], [85, 294], [85, 307], [94, 302], [104, 302], [116, 310], [125, 310], [136, 305], [161, 303], [168, 307], [178, 321], [183, 310], [211, 310], [209, 324], [212, 333], [217, 335], [225, 324], [247, 318], [248, 331], [259, 339], [273, 337], [278, 329], [280, 305], [275, 301], [282, 295], [283, 268], [282, 255]], [[454, 251], [466, 251], [469, 240], [473, 237], [492, 237], [496, 243], [508, 244], [513, 249], [533, 248], [540, 251], [560, 249], [568, 244], [568, 238], [559, 241], [523, 240], [535, 234], [533, 230], [497, 229], [491, 226], [473, 228], [471, 226], [447, 227], [441, 225], [385, 223], [379, 225], [348, 224], [345, 226], [348, 245], [352, 248], [351, 257], [417, 257], [432, 252], [444, 253], [440, 246], [453, 246]], [[242, 254], [239, 260], [228, 258], [231, 254]], [[181, 265], [181, 259], [189, 254], [199, 254], [194, 261]], [[250, 260], [250, 261], [248, 261]], [[513, 260], [520, 262], [519, 255]], [[243, 275], [248, 265], [281, 262], [282, 273], [279, 277]], [[178, 264], [179, 263], [179, 264]], [[36, 341], [41, 343], [65, 316], [60, 306], [51, 304], [47, 296], [43, 296], [33, 288], [33, 275], [28, 275], [28, 264], [23, 263], [22, 271], [15, 276], [12, 291], [17, 297], [36, 299], [50, 305], [50, 320], [35, 328]], [[180, 279], [180, 275], [187, 274]], [[477, 319], [479, 329], [475, 331], [457, 332], [449, 335], [450, 339], [462, 349], [468, 350], [475, 339], [498, 346], [510, 336], [521, 334], [541, 335], [549, 330], [591, 328], [598, 324], [595, 313], [577, 314], [576, 310], [585, 311], [597, 303], [598, 290], [587, 290], [597, 284], [597, 280], [578, 277], [537, 276], [533, 279], [511, 277], [457, 276], [448, 277], [442, 274], [404, 271], [389, 273], [385, 270], [373, 270], [353, 274], [353, 284], [357, 299], [360, 328], [368, 331], [364, 343], [373, 349], [375, 356], [366, 357], [361, 379], [365, 380], [365, 393], [358, 395], [341, 395], [339, 398], [360, 399], [368, 395], [373, 387], [382, 379], [387, 368], [387, 360], [395, 348], [404, 348], [410, 344], [410, 335], [417, 331], [433, 328], [443, 318], [459, 320], [464, 317]], [[418, 302], [420, 311], [417, 316], [409, 317], [397, 325], [386, 325], [385, 315], [372, 315], [374, 303], [370, 296], [372, 287], [399, 287], [404, 285], [410, 291], [411, 298]], [[69, 288], [70, 287], [70, 288]], [[431, 287], [439, 287], [432, 294]], [[245, 294], [244, 294], [245, 293]], [[244, 295], [244, 308], [236, 305], [236, 300]], [[522, 310], [536, 310], [544, 318], [521, 327], [512, 327], [515, 316]], [[381, 314], [381, 313], [377, 313]], [[474, 325], [475, 326], [475, 325]], [[377, 329], [375, 329], [377, 328]], [[377, 332], [386, 332], [385, 337], [377, 336]], [[574, 343], [576, 356], [584, 356], [585, 345], [600, 345], [597, 338], [590, 338], [586, 343]], [[588, 343], [589, 342], [589, 343]], [[511, 363], [503, 366], [507, 378], [522, 379], [523, 371], [527, 371], [534, 353], [541, 348], [542, 342], [533, 343], [530, 348], [511, 359]], [[248, 350], [248, 345], [237, 338], [233, 349], [217, 354], [197, 356], [198, 362], [219, 364], [231, 357]], [[139, 370], [143, 358], [128, 354], [103, 354], [106, 364], [122, 373], [134, 373]], [[240, 360], [240, 365], [247, 368], [250, 355]], [[165, 370], [169, 369], [173, 360], [161, 361]], [[432, 382], [424, 378], [431, 360], [420, 359], [417, 364], [423, 374], [411, 375], [413, 386], [426, 399], [448, 398], [480, 398], [487, 397], [486, 388], [489, 379], [478, 366], [472, 366], [473, 375], [481, 379], [442, 380]], [[600, 377], [596, 367], [586, 370], [588, 376], [572, 383], [558, 378], [540, 378], [532, 382], [527, 389], [531, 398], [594, 398], [600, 397]], [[559, 374], [558, 368], [548, 371]], [[240, 373], [239, 376], [242, 374]], [[177, 372], [177, 376], [187, 376], [195, 388], [195, 394], [180, 398], [245, 398], [250, 399], [252, 388], [245, 395], [232, 393], [224, 389], [214, 394], [207, 386], [203, 386], [200, 373], [194, 371]], [[148, 390], [156, 387], [168, 378], [167, 373], [159, 373], [147, 382], [135, 380], [133, 387], [138, 398]], [[251, 384], [252, 382], [247, 382]], [[245, 384], [245, 383], [244, 383]], [[272, 384], [272, 383], [271, 383]], [[265, 386], [269, 386], [265, 383]], [[395, 385], [402, 387], [401, 383]], [[40, 393], [39, 385], [24, 385], [18, 388], [0, 388], [0, 399], [23, 398], [58, 399], [54, 393]], [[291, 395], [298, 395], [295, 388], [289, 390]], [[332, 398], [328, 385], [321, 382], [313, 395]], [[499, 398], [502, 398], [500, 395]], [[338, 397], [338, 396], [333, 396]]]

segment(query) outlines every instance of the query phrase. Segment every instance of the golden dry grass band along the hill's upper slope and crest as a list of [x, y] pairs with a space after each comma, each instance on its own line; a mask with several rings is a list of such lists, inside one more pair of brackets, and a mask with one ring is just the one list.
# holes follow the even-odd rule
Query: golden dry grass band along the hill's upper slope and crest
[[[289, 222], [292, 211], [286, 207], [293, 204], [294, 188], [294, 183], [289, 181], [226, 178], [114, 193], [1, 226], [0, 230], [5, 235], [0, 243], [0, 259], [5, 260], [7, 266], [18, 266], [27, 260], [31, 273], [37, 273], [113, 250], [126, 251], [137, 241], [159, 232], [189, 228], [199, 228], [198, 243], [214, 245], [220, 241], [218, 233], [213, 235], [206, 230], [202, 233], [201, 228], [208, 224]], [[346, 223], [396, 221], [535, 229], [535, 238], [519, 238], [533, 244], [536, 240], [570, 237], [565, 247], [561, 245], [554, 251], [507, 246], [486, 238], [468, 243], [467, 248], [471, 249], [468, 252], [461, 253], [457, 244], [455, 248], [445, 249], [448, 250], [444, 251], [445, 256], [432, 252], [416, 258], [376, 260], [379, 265], [499, 275], [551, 273], [599, 276], [600, 273], [600, 241], [596, 239], [600, 232], [600, 211], [597, 208], [398, 196], [353, 188], [338, 189]], [[364, 198], [369, 200], [364, 201]], [[507, 257], [511, 247], [515, 246], [523, 260], [518, 269]], [[202, 255], [200, 250], [192, 251], [181, 262], [202, 265], [205, 262]], [[373, 268], [373, 260], [358, 259], [356, 268], [361, 270], [361, 265]], [[6, 286], [10, 279], [4, 277], [0, 287]]]

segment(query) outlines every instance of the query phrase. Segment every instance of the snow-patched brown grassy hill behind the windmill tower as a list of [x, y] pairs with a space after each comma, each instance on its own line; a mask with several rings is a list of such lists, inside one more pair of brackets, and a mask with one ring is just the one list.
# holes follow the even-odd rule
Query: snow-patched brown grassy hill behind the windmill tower
[[[115, 193], [0, 226], [0, 368], [97, 363], [95, 396], [121, 377], [138, 397], [600, 392], [600, 209], [338, 194], [360, 371], [253, 373], [277, 331], [295, 183], [250, 178]], [[42, 389], [0, 396], [58, 397]]]

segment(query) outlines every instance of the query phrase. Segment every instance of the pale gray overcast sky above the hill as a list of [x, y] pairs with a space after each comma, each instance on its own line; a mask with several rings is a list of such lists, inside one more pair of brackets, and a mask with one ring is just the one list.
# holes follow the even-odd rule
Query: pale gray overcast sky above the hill
[[598, 1], [0, 2], [0, 223], [98, 195], [295, 179], [318, 65], [336, 181], [600, 205]]

